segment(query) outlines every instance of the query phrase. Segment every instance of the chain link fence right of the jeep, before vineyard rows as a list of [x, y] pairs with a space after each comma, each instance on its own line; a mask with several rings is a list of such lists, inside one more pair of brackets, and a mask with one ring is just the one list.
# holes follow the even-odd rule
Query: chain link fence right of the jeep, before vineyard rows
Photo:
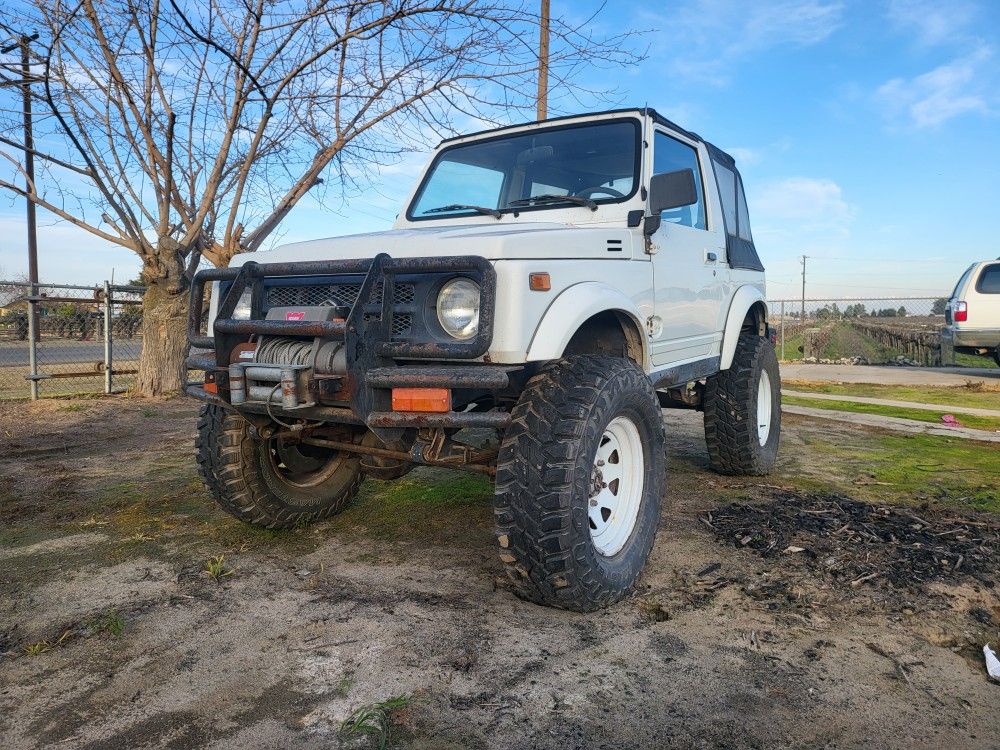
[[768, 302], [782, 360], [824, 364], [995, 367], [990, 357], [942, 352], [946, 297]]

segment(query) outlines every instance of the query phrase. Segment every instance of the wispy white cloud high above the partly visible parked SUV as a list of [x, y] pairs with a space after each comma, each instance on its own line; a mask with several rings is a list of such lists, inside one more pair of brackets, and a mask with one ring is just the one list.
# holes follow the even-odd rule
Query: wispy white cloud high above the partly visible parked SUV
[[972, 53], [911, 79], [893, 78], [875, 92], [890, 122], [935, 128], [970, 112], [990, 112], [987, 87], [981, 80], [993, 57], [980, 45]]

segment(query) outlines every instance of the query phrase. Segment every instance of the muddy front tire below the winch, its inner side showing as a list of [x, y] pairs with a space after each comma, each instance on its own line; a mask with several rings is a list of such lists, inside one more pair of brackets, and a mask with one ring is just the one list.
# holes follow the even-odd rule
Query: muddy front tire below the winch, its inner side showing
[[364, 478], [357, 456], [254, 436], [250, 423], [202, 406], [198, 470], [216, 502], [239, 520], [288, 529], [343, 510]]

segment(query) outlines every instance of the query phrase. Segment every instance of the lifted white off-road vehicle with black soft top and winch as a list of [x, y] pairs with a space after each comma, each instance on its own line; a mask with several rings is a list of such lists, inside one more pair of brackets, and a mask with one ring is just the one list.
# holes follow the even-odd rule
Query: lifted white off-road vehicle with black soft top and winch
[[652, 110], [444, 141], [391, 231], [258, 257], [197, 275], [189, 332], [198, 463], [243, 521], [325, 518], [419, 464], [482, 472], [519, 592], [593, 610], [652, 548], [663, 407], [704, 411], [714, 469], [774, 464], [740, 174]]

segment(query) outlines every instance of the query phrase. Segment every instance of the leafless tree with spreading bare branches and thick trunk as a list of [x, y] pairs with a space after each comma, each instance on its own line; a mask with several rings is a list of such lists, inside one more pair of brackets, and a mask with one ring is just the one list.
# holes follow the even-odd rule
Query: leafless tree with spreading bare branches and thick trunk
[[[143, 263], [138, 391], [175, 392], [201, 262], [256, 250], [310, 190], [340, 187], [468, 117], [534, 107], [536, 3], [501, 0], [24, 0], [41, 37], [33, 184], [0, 188]], [[551, 21], [565, 97], [630, 35]], [[17, 110], [19, 112], [20, 110]], [[10, 115], [16, 114], [13, 110]], [[14, 132], [0, 127], [3, 133]], [[21, 144], [0, 138], [16, 170]], [[331, 180], [332, 178], [332, 180]]]

